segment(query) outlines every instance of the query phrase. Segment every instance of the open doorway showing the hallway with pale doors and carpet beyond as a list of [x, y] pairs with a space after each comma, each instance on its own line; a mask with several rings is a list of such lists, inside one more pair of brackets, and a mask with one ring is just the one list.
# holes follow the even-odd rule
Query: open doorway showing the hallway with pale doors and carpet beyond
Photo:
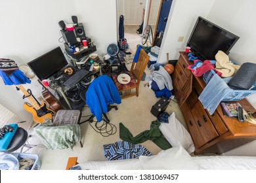
[[[137, 33], [139, 27], [145, 28], [146, 25], [149, 24], [152, 27], [152, 33], [155, 33], [161, 1], [162, 0], [117, 0], [117, 21], [121, 15], [124, 16], [124, 35], [132, 54], [135, 54], [137, 45], [142, 44], [142, 34]], [[144, 22], [146, 22], [146, 24], [144, 24]], [[119, 22], [117, 25], [119, 25]], [[152, 46], [152, 44], [147, 42], [144, 46]]]

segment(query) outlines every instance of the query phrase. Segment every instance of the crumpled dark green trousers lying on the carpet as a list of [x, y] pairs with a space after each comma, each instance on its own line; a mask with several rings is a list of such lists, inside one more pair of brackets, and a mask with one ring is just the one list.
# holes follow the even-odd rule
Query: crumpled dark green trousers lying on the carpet
[[139, 135], [133, 137], [129, 129], [127, 129], [122, 123], [119, 124], [120, 129], [120, 139], [127, 142], [133, 142], [134, 144], [139, 144], [145, 141], [153, 141], [161, 149], [166, 150], [171, 148], [171, 144], [165, 139], [160, 129], [160, 122], [158, 120], [153, 121], [150, 125], [150, 130], [143, 131]]

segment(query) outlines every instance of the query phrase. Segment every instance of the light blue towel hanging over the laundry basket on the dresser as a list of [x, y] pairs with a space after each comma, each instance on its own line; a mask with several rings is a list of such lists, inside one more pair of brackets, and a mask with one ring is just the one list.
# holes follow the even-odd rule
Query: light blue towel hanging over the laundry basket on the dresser
[[201, 101], [203, 108], [206, 108], [209, 114], [213, 114], [229, 92], [232, 92], [232, 89], [228, 87], [226, 82], [220, 76], [214, 75], [198, 99]]

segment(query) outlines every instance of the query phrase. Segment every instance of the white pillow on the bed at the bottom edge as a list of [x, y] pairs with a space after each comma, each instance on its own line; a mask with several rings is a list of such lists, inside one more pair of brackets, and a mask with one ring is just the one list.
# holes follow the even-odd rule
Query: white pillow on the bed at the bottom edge
[[161, 150], [155, 156], [140, 156], [142, 168], [145, 170], [198, 170], [194, 159], [182, 148], [181, 144]]

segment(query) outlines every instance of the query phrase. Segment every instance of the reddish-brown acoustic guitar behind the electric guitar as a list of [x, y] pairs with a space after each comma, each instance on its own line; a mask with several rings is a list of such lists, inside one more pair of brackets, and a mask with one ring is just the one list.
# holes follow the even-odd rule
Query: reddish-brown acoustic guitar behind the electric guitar
[[48, 88], [45, 87], [45, 85], [41, 82], [41, 80], [37, 80], [41, 86], [43, 86], [44, 90], [42, 93], [43, 98], [47, 101], [51, 109], [54, 110], [54, 112], [57, 112], [58, 110], [62, 109], [62, 106], [58, 102], [58, 99], [54, 97], [54, 95], [48, 90]]

